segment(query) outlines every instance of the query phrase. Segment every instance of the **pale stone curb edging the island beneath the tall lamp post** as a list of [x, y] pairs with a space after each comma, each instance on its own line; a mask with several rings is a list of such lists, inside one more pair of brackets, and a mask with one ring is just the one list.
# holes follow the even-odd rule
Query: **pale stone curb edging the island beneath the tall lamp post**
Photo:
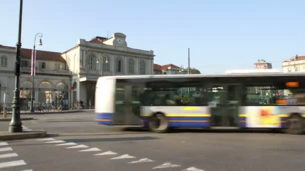
[[44, 130], [31, 130], [31, 131], [23, 131], [19, 133], [9, 133], [8, 131], [0, 131], [0, 140], [29, 139], [29, 138], [45, 137], [46, 135], [47, 132]]

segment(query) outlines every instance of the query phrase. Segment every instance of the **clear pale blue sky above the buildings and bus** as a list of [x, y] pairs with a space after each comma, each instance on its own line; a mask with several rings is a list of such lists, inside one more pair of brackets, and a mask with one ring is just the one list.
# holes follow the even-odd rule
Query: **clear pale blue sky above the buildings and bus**
[[[253, 68], [257, 59], [305, 55], [303, 0], [24, 0], [22, 47], [65, 51], [77, 39], [127, 35], [129, 47], [154, 50], [155, 63], [201, 72]], [[0, 44], [17, 42], [19, 0], [1, 0]]]

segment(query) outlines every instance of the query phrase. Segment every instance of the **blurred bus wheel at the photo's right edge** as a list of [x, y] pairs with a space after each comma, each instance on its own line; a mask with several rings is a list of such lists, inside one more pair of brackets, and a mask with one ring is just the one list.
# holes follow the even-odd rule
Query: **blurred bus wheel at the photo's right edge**
[[299, 114], [292, 114], [287, 119], [288, 128], [286, 133], [288, 134], [302, 134], [304, 129], [304, 120]]

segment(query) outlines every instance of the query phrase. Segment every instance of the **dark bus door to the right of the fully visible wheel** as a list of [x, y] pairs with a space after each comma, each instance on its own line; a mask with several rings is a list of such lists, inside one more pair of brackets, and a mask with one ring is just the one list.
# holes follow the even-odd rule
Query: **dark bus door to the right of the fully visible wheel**
[[208, 94], [211, 126], [239, 126], [240, 85], [211, 85]]

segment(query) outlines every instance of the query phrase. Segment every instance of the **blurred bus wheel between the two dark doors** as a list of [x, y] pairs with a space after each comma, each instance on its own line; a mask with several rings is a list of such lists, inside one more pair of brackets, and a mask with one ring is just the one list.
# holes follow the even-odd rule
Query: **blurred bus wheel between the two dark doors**
[[157, 133], [166, 133], [169, 131], [169, 120], [162, 113], [156, 113], [148, 120], [150, 131]]

